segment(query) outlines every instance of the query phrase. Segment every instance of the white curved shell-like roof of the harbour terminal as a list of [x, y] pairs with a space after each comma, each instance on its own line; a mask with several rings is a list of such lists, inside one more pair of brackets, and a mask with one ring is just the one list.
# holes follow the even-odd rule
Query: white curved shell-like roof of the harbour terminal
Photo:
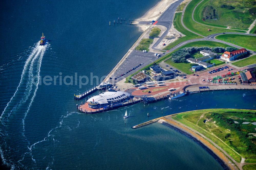
[[87, 102], [94, 102], [99, 103], [99, 104], [104, 104], [108, 103], [111, 101], [116, 101], [120, 99], [124, 99], [127, 96], [129, 97], [131, 94], [123, 91], [107, 91], [104, 93], [101, 93], [99, 95], [93, 96], [90, 99], [87, 100]]

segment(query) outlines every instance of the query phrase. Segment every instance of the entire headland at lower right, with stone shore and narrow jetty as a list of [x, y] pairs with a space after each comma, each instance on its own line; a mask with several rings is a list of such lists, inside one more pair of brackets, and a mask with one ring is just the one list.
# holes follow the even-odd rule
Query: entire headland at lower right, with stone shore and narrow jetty
[[[234, 121], [238, 121], [239, 124], [234, 123]], [[134, 127], [137, 128], [154, 122], [170, 126], [194, 139], [213, 156], [217, 156], [224, 167], [238, 169], [223, 152], [226, 152], [237, 163], [240, 163], [241, 157], [246, 158], [245, 162], [256, 163], [255, 146], [251, 142], [251, 140], [255, 140], [253, 140], [252, 135], [250, 135], [252, 138], [246, 135], [246, 133], [253, 131], [255, 125], [242, 124], [242, 122], [255, 121], [256, 110], [204, 109], [159, 117]], [[253, 148], [247, 148], [249, 145]], [[247, 149], [244, 150], [243, 147]], [[255, 166], [245, 165], [243, 169], [254, 169]]]

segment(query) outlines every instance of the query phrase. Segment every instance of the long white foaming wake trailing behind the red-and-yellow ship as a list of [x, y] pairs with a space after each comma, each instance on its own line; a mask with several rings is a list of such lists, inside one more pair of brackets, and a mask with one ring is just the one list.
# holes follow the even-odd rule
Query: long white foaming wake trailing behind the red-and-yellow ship
[[48, 46], [40, 46], [39, 42], [33, 46], [19, 85], [0, 116], [0, 153], [3, 163], [12, 169], [25, 168], [24, 161], [33, 161], [33, 157], [25, 156], [31, 155], [25, 136], [25, 118], [36, 96], [41, 62]]

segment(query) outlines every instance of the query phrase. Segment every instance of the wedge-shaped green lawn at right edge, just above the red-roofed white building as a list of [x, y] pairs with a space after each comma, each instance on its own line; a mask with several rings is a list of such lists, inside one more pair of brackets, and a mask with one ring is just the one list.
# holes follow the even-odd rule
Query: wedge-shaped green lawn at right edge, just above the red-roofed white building
[[222, 34], [216, 37], [218, 40], [231, 42], [248, 50], [256, 51], [256, 36], [239, 34]]

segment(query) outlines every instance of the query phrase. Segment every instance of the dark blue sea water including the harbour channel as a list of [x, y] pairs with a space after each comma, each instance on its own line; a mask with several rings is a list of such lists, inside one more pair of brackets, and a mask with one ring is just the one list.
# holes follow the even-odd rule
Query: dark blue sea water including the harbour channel
[[[81, 88], [75, 83], [45, 85], [33, 79], [76, 73], [89, 78], [91, 73], [105, 76], [142, 33], [124, 22], [113, 26], [113, 20], [134, 20], [156, 3], [0, 2], [0, 152], [4, 165], [13, 169], [222, 169], [207, 151], [171, 128], [158, 123], [136, 130], [131, 127], [160, 117], [162, 112], [195, 110], [196, 104], [198, 108], [216, 108], [216, 104], [218, 108], [253, 108], [255, 91], [204, 92], [85, 115], [77, 112], [73, 94], [93, 87], [96, 79]], [[42, 32], [46, 46], [38, 45]], [[132, 117], [124, 124], [126, 109]]]

